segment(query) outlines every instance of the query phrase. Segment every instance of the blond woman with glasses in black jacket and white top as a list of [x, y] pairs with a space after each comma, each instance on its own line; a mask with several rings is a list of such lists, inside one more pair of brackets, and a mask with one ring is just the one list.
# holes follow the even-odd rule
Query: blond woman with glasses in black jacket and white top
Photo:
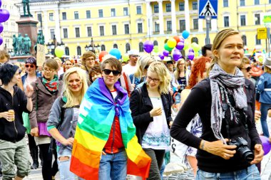
[[160, 179], [165, 149], [170, 144], [172, 98], [170, 74], [161, 62], [150, 63], [146, 82], [132, 92], [130, 109], [138, 142], [152, 162], [148, 179]]

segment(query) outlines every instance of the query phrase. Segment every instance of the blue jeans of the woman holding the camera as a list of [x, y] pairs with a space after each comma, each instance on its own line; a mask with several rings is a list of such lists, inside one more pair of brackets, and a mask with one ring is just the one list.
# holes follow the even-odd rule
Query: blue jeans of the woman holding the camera
[[226, 173], [211, 173], [198, 169], [196, 180], [260, 180], [260, 173], [255, 164], [248, 166], [247, 169]]

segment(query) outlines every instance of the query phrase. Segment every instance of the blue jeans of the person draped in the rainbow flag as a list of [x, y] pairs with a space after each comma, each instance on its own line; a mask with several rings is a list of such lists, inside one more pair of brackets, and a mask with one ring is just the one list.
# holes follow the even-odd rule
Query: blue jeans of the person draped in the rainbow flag
[[102, 155], [99, 166], [99, 180], [126, 180], [126, 151]]

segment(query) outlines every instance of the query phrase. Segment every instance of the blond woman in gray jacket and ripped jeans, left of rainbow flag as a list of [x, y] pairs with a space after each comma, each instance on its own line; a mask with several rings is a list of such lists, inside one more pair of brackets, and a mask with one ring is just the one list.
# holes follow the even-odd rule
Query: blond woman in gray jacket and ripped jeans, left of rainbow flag
[[78, 122], [79, 105], [88, 89], [86, 73], [81, 68], [70, 68], [63, 76], [63, 94], [51, 108], [47, 130], [56, 139], [58, 169], [61, 179], [77, 179], [70, 169], [73, 137]]

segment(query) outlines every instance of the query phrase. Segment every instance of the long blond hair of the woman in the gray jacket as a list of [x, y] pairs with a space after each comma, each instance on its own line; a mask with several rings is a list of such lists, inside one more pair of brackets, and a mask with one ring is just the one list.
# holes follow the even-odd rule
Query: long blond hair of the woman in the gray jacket
[[[73, 74], [77, 73], [80, 80], [82, 81], [82, 90], [79, 97], [75, 97], [71, 90], [68, 88], [68, 77]], [[68, 70], [63, 75], [63, 96], [67, 98], [67, 102], [64, 105], [64, 107], [73, 107], [76, 105], [76, 100], [81, 103], [83, 100], [83, 96], [86, 94], [86, 90], [88, 89], [88, 83], [87, 83], [87, 77], [86, 77], [86, 71], [82, 70], [78, 67], [73, 67]]]

